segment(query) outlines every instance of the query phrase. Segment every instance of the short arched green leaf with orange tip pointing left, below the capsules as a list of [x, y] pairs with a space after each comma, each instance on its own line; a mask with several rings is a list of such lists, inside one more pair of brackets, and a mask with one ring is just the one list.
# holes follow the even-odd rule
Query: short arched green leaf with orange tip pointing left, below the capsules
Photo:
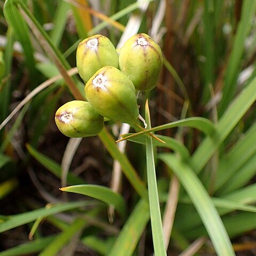
[[126, 213], [124, 198], [110, 188], [98, 185], [76, 185], [60, 188], [60, 190], [90, 196], [106, 204], [114, 205], [115, 209], [121, 213], [123, 217]]

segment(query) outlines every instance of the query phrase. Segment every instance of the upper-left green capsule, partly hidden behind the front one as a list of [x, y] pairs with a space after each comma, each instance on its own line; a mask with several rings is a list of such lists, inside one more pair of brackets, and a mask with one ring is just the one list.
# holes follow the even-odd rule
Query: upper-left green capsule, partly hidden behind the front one
[[79, 75], [87, 82], [102, 67], [111, 65], [118, 68], [118, 54], [106, 36], [91, 36], [78, 45], [76, 65]]

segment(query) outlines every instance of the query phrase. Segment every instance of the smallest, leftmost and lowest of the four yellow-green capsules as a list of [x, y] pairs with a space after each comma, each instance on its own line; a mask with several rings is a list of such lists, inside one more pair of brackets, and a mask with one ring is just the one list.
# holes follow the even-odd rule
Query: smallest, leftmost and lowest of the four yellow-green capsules
[[55, 114], [55, 123], [67, 137], [89, 137], [101, 132], [104, 118], [89, 102], [73, 100], [61, 106]]

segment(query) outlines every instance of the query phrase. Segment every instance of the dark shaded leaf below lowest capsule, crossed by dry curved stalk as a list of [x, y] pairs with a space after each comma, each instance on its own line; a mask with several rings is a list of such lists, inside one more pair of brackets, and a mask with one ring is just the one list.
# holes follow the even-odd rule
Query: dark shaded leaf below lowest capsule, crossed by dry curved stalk
[[[58, 178], [61, 177], [61, 168], [60, 165], [54, 162], [51, 158], [43, 155], [39, 151], [37, 151], [35, 148], [31, 147], [29, 144], [26, 145], [29, 153], [39, 162], [41, 163], [47, 170], [52, 172], [55, 176]], [[76, 175], [72, 173], [68, 173], [67, 181], [70, 185], [77, 185], [84, 183], [84, 180], [77, 177]]]

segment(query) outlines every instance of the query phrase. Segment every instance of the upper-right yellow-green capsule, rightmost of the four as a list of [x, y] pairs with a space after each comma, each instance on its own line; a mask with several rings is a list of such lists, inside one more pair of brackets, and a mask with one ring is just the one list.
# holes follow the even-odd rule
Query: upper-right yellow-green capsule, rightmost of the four
[[159, 45], [146, 34], [129, 38], [119, 53], [120, 70], [140, 91], [150, 91], [156, 86], [162, 65]]

